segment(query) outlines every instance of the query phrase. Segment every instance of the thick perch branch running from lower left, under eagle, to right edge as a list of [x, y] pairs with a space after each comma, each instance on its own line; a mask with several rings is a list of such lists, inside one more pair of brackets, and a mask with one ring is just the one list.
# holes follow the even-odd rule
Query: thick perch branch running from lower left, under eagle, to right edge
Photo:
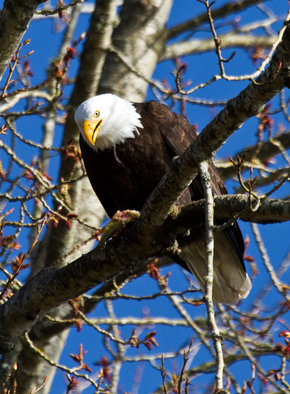
[[[255, 206], [255, 201], [252, 204]], [[247, 209], [248, 197], [215, 197], [215, 206], [215, 219], [230, 219], [232, 215]], [[171, 218], [172, 222], [167, 226], [172, 232], [178, 231], [181, 226], [197, 226], [198, 220], [200, 223], [204, 222], [204, 200], [176, 209], [177, 217]], [[287, 218], [290, 220], [290, 202], [265, 200], [257, 212], [245, 212], [241, 217], [243, 220], [247, 218], [251, 221], [255, 221], [257, 217], [259, 223], [266, 223], [267, 216], [270, 217], [267, 223], [285, 221]], [[194, 221], [191, 217], [194, 217]], [[133, 227], [136, 226], [137, 223]], [[166, 240], [176, 237], [176, 233], [174, 236], [172, 233], [164, 233], [163, 227], [159, 229], [160, 233]], [[121, 271], [131, 270], [149, 256], [166, 253], [166, 250], [161, 250], [162, 245], [156, 244], [155, 234], [151, 234], [150, 238], [147, 234], [140, 234], [140, 238], [136, 240], [134, 231], [128, 231], [125, 238], [126, 243], [122, 238], [109, 240], [105, 250], [93, 250], [58, 270], [43, 269], [1, 305], [0, 351], [3, 353], [12, 350], [20, 336], [53, 308], [107, 281]], [[132, 244], [132, 241], [135, 244]], [[163, 241], [164, 245], [166, 246], [166, 241]]]

